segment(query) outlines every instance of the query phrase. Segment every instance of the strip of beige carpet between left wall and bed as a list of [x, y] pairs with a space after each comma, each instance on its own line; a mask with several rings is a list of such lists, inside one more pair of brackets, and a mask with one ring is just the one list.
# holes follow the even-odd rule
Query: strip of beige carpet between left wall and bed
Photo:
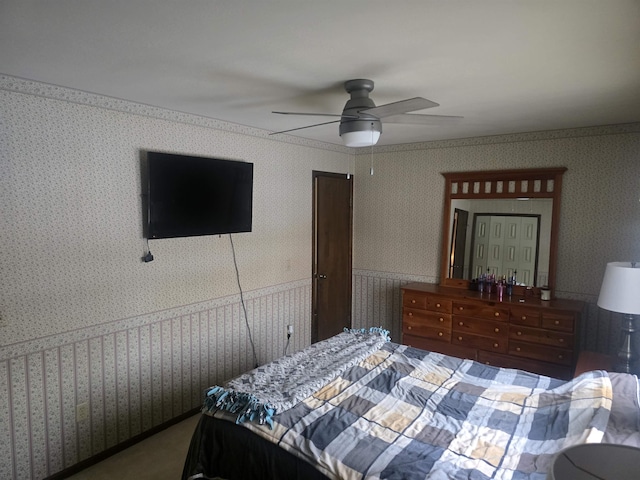
[[72, 480], [177, 480], [200, 414], [93, 465]]

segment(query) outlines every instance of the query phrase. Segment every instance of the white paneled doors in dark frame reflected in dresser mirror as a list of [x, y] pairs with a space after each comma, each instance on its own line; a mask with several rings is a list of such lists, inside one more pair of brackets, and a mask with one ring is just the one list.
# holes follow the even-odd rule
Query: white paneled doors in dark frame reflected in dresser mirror
[[471, 278], [510, 277], [517, 271], [519, 284], [536, 284], [539, 236], [540, 215], [475, 214]]

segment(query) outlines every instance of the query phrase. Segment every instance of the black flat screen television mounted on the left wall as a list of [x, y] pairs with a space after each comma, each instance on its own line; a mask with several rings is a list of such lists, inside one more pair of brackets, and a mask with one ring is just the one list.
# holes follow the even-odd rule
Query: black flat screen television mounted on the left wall
[[147, 238], [250, 232], [253, 163], [147, 153]]

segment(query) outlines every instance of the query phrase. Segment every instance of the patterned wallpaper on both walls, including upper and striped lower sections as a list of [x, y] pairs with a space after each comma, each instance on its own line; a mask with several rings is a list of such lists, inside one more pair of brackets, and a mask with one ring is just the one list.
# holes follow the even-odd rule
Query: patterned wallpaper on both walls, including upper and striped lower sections
[[254, 162], [254, 231], [234, 243], [260, 363], [287, 324], [292, 349], [311, 338], [311, 171], [354, 164], [354, 326], [399, 340], [400, 286], [437, 282], [440, 172], [564, 165], [559, 294], [591, 302], [587, 346], [615, 343], [593, 302], [607, 261], [640, 258], [638, 125], [354, 156], [11, 77], [0, 105], [0, 478], [74, 465], [253, 364], [228, 237], [151, 241], [140, 260], [144, 149]]

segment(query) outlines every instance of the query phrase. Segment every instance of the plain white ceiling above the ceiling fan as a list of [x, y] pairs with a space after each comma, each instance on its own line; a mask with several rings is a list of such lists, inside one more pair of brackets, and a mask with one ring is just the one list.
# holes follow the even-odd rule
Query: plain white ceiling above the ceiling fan
[[[640, 121], [640, 0], [0, 0], [0, 73], [269, 131], [422, 96], [378, 145]], [[338, 125], [292, 132], [341, 144]]]

